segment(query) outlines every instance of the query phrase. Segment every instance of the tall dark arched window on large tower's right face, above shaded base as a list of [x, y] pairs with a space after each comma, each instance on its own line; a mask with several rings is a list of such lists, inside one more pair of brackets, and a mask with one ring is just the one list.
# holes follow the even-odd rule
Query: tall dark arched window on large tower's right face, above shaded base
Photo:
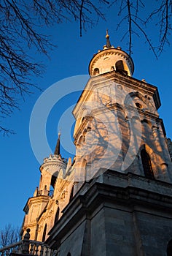
[[144, 167], [144, 175], [146, 176], [146, 178], [154, 178], [151, 159], [149, 157], [149, 154], [146, 152], [145, 148], [141, 150], [141, 161]]

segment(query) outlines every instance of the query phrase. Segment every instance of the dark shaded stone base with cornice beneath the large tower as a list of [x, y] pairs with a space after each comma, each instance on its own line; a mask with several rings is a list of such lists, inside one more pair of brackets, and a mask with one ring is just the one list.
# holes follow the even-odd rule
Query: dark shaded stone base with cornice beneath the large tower
[[165, 256], [172, 238], [171, 203], [171, 184], [107, 170], [84, 184], [47, 243], [60, 256]]

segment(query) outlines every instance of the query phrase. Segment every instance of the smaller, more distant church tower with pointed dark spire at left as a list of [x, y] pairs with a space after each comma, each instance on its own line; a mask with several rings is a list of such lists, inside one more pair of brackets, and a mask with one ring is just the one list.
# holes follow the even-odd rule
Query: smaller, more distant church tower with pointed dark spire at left
[[39, 187], [36, 187], [34, 196], [28, 199], [23, 209], [26, 213], [23, 222], [23, 233], [26, 233], [27, 228], [30, 228], [31, 240], [44, 241], [48, 231], [57, 221], [60, 211], [54, 193], [57, 190], [56, 187], [60, 189], [58, 183], [63, 179], [66, 167], [66, 159], [63, 159], [60, 155], [59, 133], [54, 154], [45, 158], [40, 166]]

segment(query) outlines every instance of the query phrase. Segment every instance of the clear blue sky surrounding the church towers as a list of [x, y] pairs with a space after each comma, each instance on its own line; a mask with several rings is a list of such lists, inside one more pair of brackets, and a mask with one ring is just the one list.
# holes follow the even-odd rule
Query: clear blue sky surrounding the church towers
[[[116, 31], [117, 20], [113, 12], [109, 10], [106, 21], [100, 21], [92, 29], [83, 31], [79, 37], [79, 24], [66, 22], [49, 29], [52, 34], [52, 42], [58, 45], [50, 53], [50, 59], [34, 54], [34, 58], [41, 60], [47, 65], [46, 71], [41, 78], [33, 78], [34, 83], [46, 90], [53, 83], [64, 78], [75, 75], [87, 75], [88, 64], [93, 54], [103, 48], [106, 42], [106, 29], [109, 29], [110, 40], [114, 47], [120, 45], [122, 50], [127, 49], [126, 41], [120, 41], [125, 27]], [[152, 29], [152, 28], [151, 28]], [[156, 29], [149, 31], [152, 38], [157, 36]], [[154, 34], [155, 33], [155, 34]], [[149, 50], [145, 39], [134, 38], [133, 41], [133, 62], [135, 72], [133, 78], [145, 79], [148, 83], [157, 86], [162, 106], [159, 109], [160, 118], [163, 118], [165, 130], [168, 138], [172, 138], [171, 120], [171, 56], [172, 47], [166, 47], [162, 55], [155, 59]], [[72, 84], [71, 84], [72, 86]], [[83, 84], [84, 89], [85, 84]], [[63, 86], [57, 89], [63, 90]], [[14, 129], [16, 134], [9, 137], [1, 137], [1, 211], [0, 228], [7, 223], [21, 225], [23, 222], [23, 207], [39, 186], [39, 162], [36, 160], [31, 148], [29, 139], [29, 121], [34, 104], [42, 91], [34, 89], [34, 94], [26, 96], [25, 102], [20, 102], [20, 111], [15, 111], [11, 118], [7, 118], [5, 124]], [[58, 121], [62, 113], [77, 101], [79, 93], [74, 93], [66, 97], [52, 108], [47, 119], [47, 140], [50, 148], [54, 151], [55, 143], [58, 138]], [[46, 105], [46, 101], [44, 102]], [[61, 137], [66, 136], [66, 128], [60, 127]], [[40, 145], [40, 151], [42, 147]], [[50, 152], [51, 153], [51, 152]], [[69, 154], [62, 151], [63, 157]], [[45, 155], [44, 157], [48, 157]], [[43, 159], [42, 159], [43, 160]]]

